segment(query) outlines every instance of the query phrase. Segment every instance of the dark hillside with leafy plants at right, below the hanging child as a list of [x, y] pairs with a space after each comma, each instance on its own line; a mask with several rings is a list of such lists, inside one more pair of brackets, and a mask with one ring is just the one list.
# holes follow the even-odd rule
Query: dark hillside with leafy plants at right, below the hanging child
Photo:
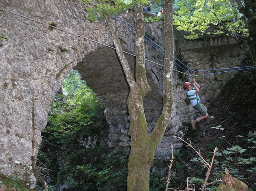
[[[253, 75], [248, 71], [242, 71], [230, 79], [222, 87], [217, 99], [212, 100], [208, 106], [208, 113], [214, 116], [214, 120], [196, 124], [196, 130], [189, 127], [184, 140], [189, 139], [206, 159], [212, 159], [215, 147], [222, 153], [225, 159], [215, 157], [212, 179], [217, 177], [216, 171], [223, 171], [226, 166], [231, 175], [244, 181], [249, 189], [256, 190], [255, 159], [252, 164], [246, 164], [246, 159], [256, 157], [256, 83]], [[241, 148], [236, 150], [237, 146]], [[226, 154], [223, 153], [224, 150]], [[185, 164], [190, 172], [183, 175], [183, 178], [202, 175], [204, 179], [206, 168], [201, 168], [201, 171], [198, 169], [200, 167], [196, 168], [197, 160], [193, 159], [198, 157], [196, 153], [184, 145], [180, 155], [179, 165], [175, 166], [176, 171], [182, 170], [181, 165]], [[224, 161], [225, 164], [220, 165], [220, 161]]]

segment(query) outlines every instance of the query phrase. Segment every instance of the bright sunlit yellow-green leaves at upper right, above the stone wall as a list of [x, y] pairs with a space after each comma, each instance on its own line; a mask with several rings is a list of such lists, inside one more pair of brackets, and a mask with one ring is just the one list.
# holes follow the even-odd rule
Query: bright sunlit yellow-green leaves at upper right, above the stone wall
[[236, 3], [231, 7], [229, 1], [222, 0], [180, 0], [178, 10], [174, 11], [174, 25], [178, 30], [190, 34], [188, 39], [199, 35], [226, 33], [227, 35], [246, 37], [246, 28], [242, 14], [237, 10]]

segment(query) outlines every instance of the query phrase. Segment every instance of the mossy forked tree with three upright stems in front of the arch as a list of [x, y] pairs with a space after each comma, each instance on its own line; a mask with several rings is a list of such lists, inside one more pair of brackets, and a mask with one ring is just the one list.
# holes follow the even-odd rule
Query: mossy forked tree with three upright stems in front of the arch
[[145, 49], [144, 49], [144, 16], [142, 6], [134, 7], [135, 13], [135, 47], [136, 47], [136, 71], [135, 78], [130, 72], [128, 62], [122, 52], [122, 47], [115, 32], [115, 28], [107, 18], [108, 26], [112, 33], [116, 52], [124, 69], [126, 80], [130, 87], [127, 99], [130, 114], [130, 135], [132, 138], [131, 153], [128, 161], [128, 191], [149, 191], [150, 166], [154, 159], [157, 145], [162, 139], [166, 126], [172, 116], [172, 65], [174, 58], [174, 38], [172, 31], [172, 0], [165, 2], [165, 42], [166, 53], [164, 61], [164, 87], [163, 110], [155, 127], [148, 136], [147, 122], [144, 114], [144, 96], [150, 91], [146, 79]]

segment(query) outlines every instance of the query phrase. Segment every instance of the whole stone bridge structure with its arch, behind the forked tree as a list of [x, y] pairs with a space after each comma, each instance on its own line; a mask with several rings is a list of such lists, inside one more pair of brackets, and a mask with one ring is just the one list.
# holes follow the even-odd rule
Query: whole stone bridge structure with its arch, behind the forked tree
[[[1, 0], [0, 13], [0, 173], [16, 173], [34, 183], [31, 156], [37, 155], [41, 131], [45, 128], [50, 103], [71, 69], [76, 69], [105, 107], [109, 124], [108, 146], [127, 152], [130, 146], [128, 86], [104, 22], [84, 17], [86, 4], [70, 0]], [[132, 19], [130, 22], [132, 23]], [[51, 27], [53, 26], [53, 27]], [[148, 23], [147, 34], [164, 47], [162, 23]], [[118, 35], [123, 48], [134, 53], [134, 34], [121, 26]], [[185, 40], [176, 32], [177, 53], [192, 69], [238, 66], [242, 51], [226, 37]], [[134, 56], [126, 55], [134, 69]], [[148, 81], [152, 91], [144, 101], [148, 132], [154, 128], [162, 109], [162, 64], [164, 57], [146, 44]], [[178, 66], [176, 70], [182, 71]], [[184, 71], [182, 71], [184, 72]], [[218, 95], [232, 73], [200, 76], [201, 99]], [[188, 76], [174, 72], [174, 112], [156, 150], [156, 158], [170, 158], [170, 144], [182, 144], [173, 136], [183, 136], [183, 121], [194, 114], [182, 88]], [[34, 141], [34, 147], [32, 142]]]

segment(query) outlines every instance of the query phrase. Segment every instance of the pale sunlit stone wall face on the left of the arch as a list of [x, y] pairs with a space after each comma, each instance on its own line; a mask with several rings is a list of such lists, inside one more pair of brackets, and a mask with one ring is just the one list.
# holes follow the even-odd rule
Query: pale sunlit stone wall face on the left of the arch
[[[85, 55], [111, 45], [104, 23], [84, 18], [85, 4], [68, 0], [1, 0], [0, 35], [0, 173], [16, 173], [35, 182], [31, 156], [41, 142], [50, 103], [63, 79]], [[28, 18], [24, 18], [26, 16]], [[45, 24], [79, 34], [51, 29]], [[67, 49], [67, 51], [65, 51]], [[34, 130], [33, 130], [34, 129]]]

